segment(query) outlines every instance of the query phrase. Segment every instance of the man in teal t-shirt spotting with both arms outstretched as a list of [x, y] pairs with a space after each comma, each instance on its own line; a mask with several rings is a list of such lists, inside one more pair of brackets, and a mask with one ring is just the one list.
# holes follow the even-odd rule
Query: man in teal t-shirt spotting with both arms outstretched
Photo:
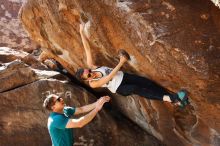
[[[56, 94], [46, 97], [43, 107], [52, 111], [48, 118], [48, 130], [53, 146], [73, 146], [73, 128], [81, 128], [88, 124], [102, 109], [104, 103], [109, 102], [109, 96], [103, 96], [96, 102], [82, 107], [67, 107], [63, 98]], [[71, 116], [87, 113], [78, 119]]]

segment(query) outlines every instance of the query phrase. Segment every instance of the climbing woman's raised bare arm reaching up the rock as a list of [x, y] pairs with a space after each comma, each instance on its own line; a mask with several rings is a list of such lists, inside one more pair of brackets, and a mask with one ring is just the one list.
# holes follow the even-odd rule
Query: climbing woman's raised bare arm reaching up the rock
[[81, 38], [82, 38], [83, 47], [84, 47], [85, 52], [86, 52], [87, 65], [91, 69], [96, 69], [97, 66], [94, 65], [89, 42], [88, 42], [88, 40], [87, 40], [87, 38], [84, 34], [84, 26], [85, 26], [85, 24], [80, 24], [80, 35], [81, 35]]

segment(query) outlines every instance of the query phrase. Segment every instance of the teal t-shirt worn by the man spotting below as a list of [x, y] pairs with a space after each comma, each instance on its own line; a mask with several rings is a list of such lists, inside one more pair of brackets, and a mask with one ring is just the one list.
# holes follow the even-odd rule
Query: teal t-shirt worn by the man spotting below
[[52, 112], [48, 118], [47, 127], [53, 146], [73, 146], [73, 129], [66, 128], [70, 117], [74, 115], [75, 108], [64, 107], [64, 114]]

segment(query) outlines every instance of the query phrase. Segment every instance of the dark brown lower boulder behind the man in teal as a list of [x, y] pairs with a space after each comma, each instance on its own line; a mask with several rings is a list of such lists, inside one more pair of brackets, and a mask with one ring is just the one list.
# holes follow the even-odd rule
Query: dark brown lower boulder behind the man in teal
[[[7, 67], [3, 69], [4, 66]], [[16, 74], [14, 76], [17, 78], [11, 73]], [[62, 80], [56, 79], [58, 75]], [[58, 72], [33, 69], [21, 61], [1, 64], [0, 76], [1, 85], [6, 78], [14, 81], [14, 86], [0, 92], [1, 146], [51, 145], [46, 127], [49, 113], [42, 109], [48, 93], [61, 94], [70, 106], [85, 105], [96, 100], [83, 88], [67, 82]], [[23, 82], [26, 80], [31, 83]], [[161, 145], [156, 138], [109, 109], [103, 109], [92, 123], [75, 129], [74, 133], [76, 145]]]

